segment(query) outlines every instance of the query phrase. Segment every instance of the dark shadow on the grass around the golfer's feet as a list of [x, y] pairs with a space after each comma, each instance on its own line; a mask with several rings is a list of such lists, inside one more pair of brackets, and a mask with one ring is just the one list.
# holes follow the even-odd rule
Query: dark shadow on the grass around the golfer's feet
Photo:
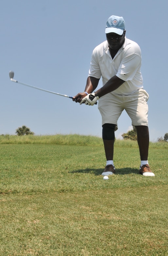
[[[103, 173], [104, 169], [81, 169], [76, 171], [70, 171], [69, 173], [93, 173], [94, 175], [101, 175]], [[120, 168], [116, 169], [115, 175], [125, 175], [135, 173], [139, 174], [139, 170], [136, 168]]]

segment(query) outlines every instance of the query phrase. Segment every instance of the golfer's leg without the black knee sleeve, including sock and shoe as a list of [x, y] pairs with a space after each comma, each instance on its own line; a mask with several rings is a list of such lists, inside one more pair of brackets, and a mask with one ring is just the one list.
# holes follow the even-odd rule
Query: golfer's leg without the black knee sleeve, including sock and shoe
[[143, 176], [155, 176], [151, 171], [148, 164], [148, 150], [149, 150], [149, 129], [148, 126], [138, 125], [137, 129], [137, 141], [140, 150], [140, 174]]

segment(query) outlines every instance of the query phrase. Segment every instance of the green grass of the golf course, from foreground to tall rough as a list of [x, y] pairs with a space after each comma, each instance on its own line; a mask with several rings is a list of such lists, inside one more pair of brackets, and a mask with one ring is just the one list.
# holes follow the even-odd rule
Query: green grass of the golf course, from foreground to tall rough
[[167, 142], [143, 177], [137, 143], [116, 141], [105, 181], [102, 140], [29, 138], [0, 144], [0, 255], [168, 255]]

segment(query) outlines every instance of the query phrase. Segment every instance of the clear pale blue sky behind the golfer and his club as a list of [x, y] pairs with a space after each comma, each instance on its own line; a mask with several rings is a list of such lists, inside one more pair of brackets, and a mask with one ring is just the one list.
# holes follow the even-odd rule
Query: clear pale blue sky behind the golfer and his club
[[[1, 1], [0, 134], [15, 134], [26, 125], [36, 135], [101, 137], [97, 106], [13, 83], [9, 71], [18, 81], [61, 94], [84, 91], [91, 53], [106, 39], [105, 24], [114, 14], [124, 17], [127, 38], [141, 48], [144, 89], [150, 96], [150, 140], [164, 137], [168, 133], [167, 10], [163, 0]], [[125, 112], [118, 127], [117, 138], [132, 129]]]

